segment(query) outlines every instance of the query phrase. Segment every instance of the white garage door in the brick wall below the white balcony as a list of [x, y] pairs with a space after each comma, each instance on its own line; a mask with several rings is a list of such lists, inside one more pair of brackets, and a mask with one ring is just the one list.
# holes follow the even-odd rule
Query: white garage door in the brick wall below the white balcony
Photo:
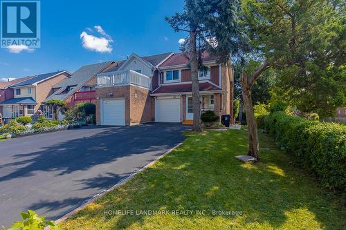
[[101, 124], [125, 126], [125, 99], [101, 100]]

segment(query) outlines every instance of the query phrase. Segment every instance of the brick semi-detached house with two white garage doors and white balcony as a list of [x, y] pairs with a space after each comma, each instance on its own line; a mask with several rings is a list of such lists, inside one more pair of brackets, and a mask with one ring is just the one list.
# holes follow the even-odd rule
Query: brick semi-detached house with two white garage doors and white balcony
[[[96, 122], [131, 125], [143, 122], [192, 124], [192, 82], [188, 58], [183, 53], [139, 57], [132, 54], [113, 68], [98, 74]], [[203, 54], [206, 71], [199, 72], [201, 111], [230, 114], [231, 79], [215, 57]]]

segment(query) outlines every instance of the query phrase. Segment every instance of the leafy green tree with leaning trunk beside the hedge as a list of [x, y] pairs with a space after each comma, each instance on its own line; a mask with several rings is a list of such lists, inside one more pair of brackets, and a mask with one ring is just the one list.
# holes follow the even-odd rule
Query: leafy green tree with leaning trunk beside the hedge
[[[251, 52], [243, 59], [246, 68], [241, 77], [249, 130], [248, 155], [259, 157], [253, 85], [269, 68], [275, 70], [280, 88], [295, 98], [302, 110], [327, 111], [342, 104], [345, 25], [338, 4], [322, 0], [242, 1], [242, 19], [251, 45]], [[254, 61], [261, 65], [253, 65]], [[336, 93], [331, 94], [328, 88]]]

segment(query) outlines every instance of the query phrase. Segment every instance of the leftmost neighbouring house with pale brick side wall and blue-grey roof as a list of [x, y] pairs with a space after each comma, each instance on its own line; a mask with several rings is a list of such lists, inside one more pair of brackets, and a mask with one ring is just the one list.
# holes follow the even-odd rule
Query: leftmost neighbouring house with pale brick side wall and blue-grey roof
[[33, 116], [39, 109], [46, 117], [52, 117], [52, 111], [42, 105], [42, 102], [53, 93], [53, 85], [70, 75], [69, 72], [63, 70], [26, 77], [20, 82], [11, 84], [5, 90], [6, 99], [0, 102], [0, 111], [3, 112], [4, 119]]

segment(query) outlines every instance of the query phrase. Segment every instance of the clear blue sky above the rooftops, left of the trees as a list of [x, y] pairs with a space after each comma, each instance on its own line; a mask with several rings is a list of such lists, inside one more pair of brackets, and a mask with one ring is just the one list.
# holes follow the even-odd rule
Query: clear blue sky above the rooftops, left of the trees
[[187, 34], [174, 32], [164, 17], [182, 10], [183, 0], [42, 0], [41, 48], [19, 53], [1, 48], [0, 79], [73, 72], [85, 64], [125, 59], [132, 52], [178, 52], [178, 41]]

